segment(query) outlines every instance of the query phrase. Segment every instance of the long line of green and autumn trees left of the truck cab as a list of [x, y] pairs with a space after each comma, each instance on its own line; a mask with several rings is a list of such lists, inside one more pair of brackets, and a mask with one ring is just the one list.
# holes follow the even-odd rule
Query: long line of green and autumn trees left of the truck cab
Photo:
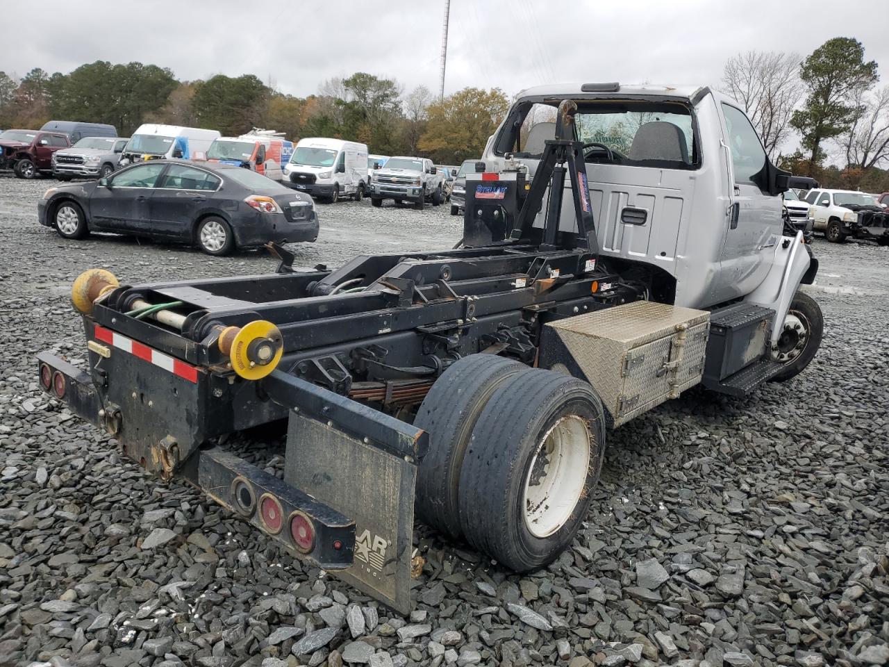
[[20, 78], [0, 72], [4, 129], [35, 129], [50, 119], [108, 123], [121, 136], [142, 123], [204, 127], [225, 136], [262, 127], [293, 141], [361, 141], [372, 153], [421, 155], [445, 164], [481, 157], [508, 108], [498, 88], [464, 88], [437, 100], [425, 86], [405, 93], [395, 79], [364, 72], [324, 81], [304, 98], [249, 74], [180, 81], [168, 68], [140, 62], [97, 60], [52, 75], [35, 68]]

